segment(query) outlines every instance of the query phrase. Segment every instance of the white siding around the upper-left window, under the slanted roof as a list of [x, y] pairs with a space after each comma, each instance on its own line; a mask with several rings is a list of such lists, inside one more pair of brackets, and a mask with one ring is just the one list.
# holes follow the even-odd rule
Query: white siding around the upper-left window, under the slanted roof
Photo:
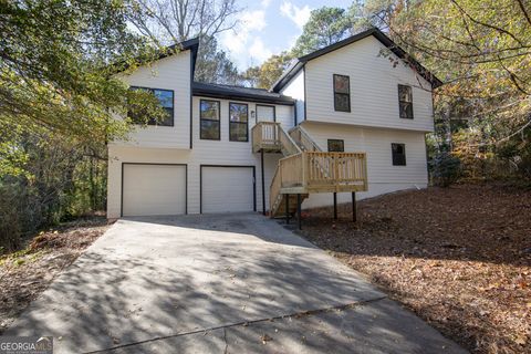
[[142, 147], [190, 148], [190, 51], [142, 66], [127, 75], [119, 75], [132, 86], [174, 91], [174, 126], [137, 128], [128, 142], [117, 143]]

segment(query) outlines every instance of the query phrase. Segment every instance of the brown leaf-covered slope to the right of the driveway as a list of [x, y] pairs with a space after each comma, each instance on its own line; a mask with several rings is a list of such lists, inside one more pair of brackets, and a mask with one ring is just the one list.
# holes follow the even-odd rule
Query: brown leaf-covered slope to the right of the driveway
[[412, 190], [310, 210], [301, 235], [473, 353], [531, 353], [531, 191]]

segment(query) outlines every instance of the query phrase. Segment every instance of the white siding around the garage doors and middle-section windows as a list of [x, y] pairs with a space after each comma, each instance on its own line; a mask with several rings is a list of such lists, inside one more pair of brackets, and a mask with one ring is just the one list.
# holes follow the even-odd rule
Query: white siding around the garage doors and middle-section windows
[[[204, 140], [199, 138], [199, 100], [192, 100], [192, 143], [194, 148], [143, 148], [126, 145], [110, 145], [108, 148], [108, 188], [107, 217], [118, 218], [121, 214], [122, 163], [153, 163], [153, 164], [186, 164], [188, 166], [188, 212], [198, 214], [200, 204], [199, 166], [200, 165], [232, 165], [254, 166], [257, 175], [257, 210], [262, 210], [261, 163], [260, 155], [252, 154], [251, 128], [254, 118], [249, 114], [249, 142], [229, 142], [229, 101], [202, 97], [220, 102], [220, 140]], [[256, 103], [247, 103], [249, 113], [256, 111]], [[285, 129], [293, 126], [293, 107], [275, 105], [277, 122], [281, 122]], [[189, 122], [189, 121], [188, 121]], [[189, 125], [189, 123], [188, 123]], [[187, 131], [188, 132], [188, 131]], [[188, 133], [189, 134], [189, 133]], [[269, 209], [269, 187], [281, 154], [266, 154], [264, 156], [266, 209]]]

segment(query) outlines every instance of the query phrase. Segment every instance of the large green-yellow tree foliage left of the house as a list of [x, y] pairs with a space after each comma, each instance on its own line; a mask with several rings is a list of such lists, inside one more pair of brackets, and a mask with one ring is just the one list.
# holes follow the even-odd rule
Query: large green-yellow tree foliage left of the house
[[114, 76], [159, 54], [129, 32], [131, 11], [127, 0], [0, 1], [0, 252], [101, 208], [105, 143], [131, 129], [115, 114], [163, 117], [153, 95]]

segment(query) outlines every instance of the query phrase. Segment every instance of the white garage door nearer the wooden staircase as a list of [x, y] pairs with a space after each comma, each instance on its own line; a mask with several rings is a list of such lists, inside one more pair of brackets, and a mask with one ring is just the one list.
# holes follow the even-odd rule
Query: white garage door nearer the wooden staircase
[[201, 167], [201, 212], [253, 210], [253, 167]]

